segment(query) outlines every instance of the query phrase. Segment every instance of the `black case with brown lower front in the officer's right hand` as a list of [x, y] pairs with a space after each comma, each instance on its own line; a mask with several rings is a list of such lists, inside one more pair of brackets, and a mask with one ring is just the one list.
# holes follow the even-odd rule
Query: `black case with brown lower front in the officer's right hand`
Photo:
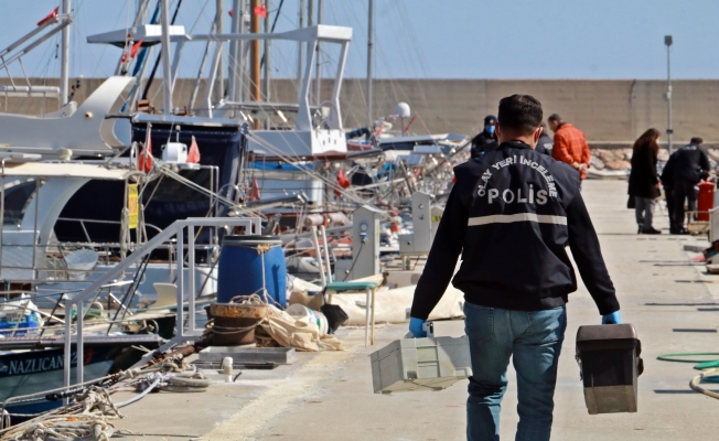
[[642, 344], [631, 324], [579, 326], [577, 363], [590, 415], [636, 412]]

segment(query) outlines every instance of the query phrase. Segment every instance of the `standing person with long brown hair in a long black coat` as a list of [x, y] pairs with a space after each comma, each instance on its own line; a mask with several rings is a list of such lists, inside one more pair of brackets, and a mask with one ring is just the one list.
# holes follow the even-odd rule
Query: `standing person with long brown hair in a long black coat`
[[659, 175], [656, 171], [656, 155], [659, 131], [648, 129], [634, 142], [629, 194], [635, 200], [636, 224], [640, 234], [661, 234], [652, 226], [654, 206], [659, 197]]

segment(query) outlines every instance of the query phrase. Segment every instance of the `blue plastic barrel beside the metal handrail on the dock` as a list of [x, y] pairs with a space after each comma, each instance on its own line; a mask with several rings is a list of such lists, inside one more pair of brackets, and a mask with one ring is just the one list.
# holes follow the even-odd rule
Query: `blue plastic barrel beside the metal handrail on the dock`
[[[265, 261], [265, 283], [262, 283]], [[217, 263], [217, 303], [229, 303], [237, 295], [267, 295], [285, 308], [287, 268], [282, 241], [277, 236], [225, 236]]]

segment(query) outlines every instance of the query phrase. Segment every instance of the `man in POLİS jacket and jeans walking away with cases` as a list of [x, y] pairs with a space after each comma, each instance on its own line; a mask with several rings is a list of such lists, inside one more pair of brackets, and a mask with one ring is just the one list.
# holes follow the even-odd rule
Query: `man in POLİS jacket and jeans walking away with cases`
[[579, 173], [534, 150], [541, 116], [541, 105], [529, 95], [500, 101], [500, 147], [454, 169], [457, 184], [415, 291], [409, 331], [421, 337], [462, 255], [452, 283], [465, 299], [472, 441], [498, 440], [509, 357], [519, 398], [516, 439], [549, 440], [565, 303], [577, 290], [567, 245], [602, 323], [621, 323]]

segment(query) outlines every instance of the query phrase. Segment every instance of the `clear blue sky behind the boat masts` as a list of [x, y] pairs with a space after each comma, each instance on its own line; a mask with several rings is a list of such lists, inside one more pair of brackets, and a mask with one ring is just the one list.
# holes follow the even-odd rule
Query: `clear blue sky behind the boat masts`
[[[178, 0], [172, 0], [172, 10]], [[309, 1], [309, 0], [305, 0]], [[280, 0], [271, 0], [270, 17]], [[674, 37], [672, 76], [719, 78], [719, 1], [716, 0], [375, 0], [375, 69], [378, 78], [666, 78], [664, 35]], [[2, 0], [0, 47], [6, 47], [60, 4], [60, 0]], [[87, 35], [126, 29], [137, 0], [72, 0], [72, 77], [106, 77], [121, 55]], [[176, 24], [208, 31], [215, 0], [184, 0]], [[225, 0], [230, 9], [232, 0]], [[277, 31], [294, 29], [300, 0], [285, 0]], [[366, 76], [368, 0], [324, 0], [328, 24], [353, 28], [345, 77]], [[229, 17], [226, 18], [226, 26]], [[13, 63], [10, 72], [57, 76], [60, 36]], [[204, 51], [185, 46], [180, 75], [194, 77]], [[271, 51], [272, 75], [293, 77], [297, 44]], [[323, 75], [339, 50], [323, 49]], [[160, 69], [161, 71], [161, 69]], [[7, 76], [7, 72], [0, 73]], [[161, 76], [161, 75], [160, 75]]]

